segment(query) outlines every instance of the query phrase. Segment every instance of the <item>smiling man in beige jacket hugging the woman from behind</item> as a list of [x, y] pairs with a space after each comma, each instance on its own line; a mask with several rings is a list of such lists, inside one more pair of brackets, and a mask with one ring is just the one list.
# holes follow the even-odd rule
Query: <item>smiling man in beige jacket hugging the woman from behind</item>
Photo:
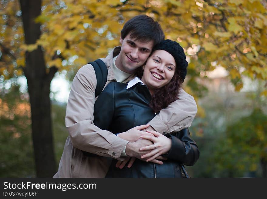
[[[137, 68], [144, 65], [153, 47], [163, 39], [161, 26], [151, 17], [138, 15], [126, 22], [121, 31], [121, 47], [115, 47], [106, 58], [101, 58], [108, 68], [106, 85], [112, 81], [126, 83], [134, 79]], [[161, 134], [180, 131], [191, 126], [197, 112], [194, 98], [181, 90], [179, 99], [162, 109], [149, 122], [150, 125], [142, 125], [116, 136], [93, 124], [96, 84], [96, 74], [90, 64], [80, 68], [73, 79], [65, 119], [69, 136], [59, 171], [54, 177], [105, 177], [111, 158], [123, 161], [122, 165], [125, 165], [129, 159], [125, 158], [127, 153], [140, 158], [151, 151], [139, 150], [150, 145], [150, 141], [127, 141], [123, 139], [125, 135], [148, 135], [146, 129]], [[84, 152], [92, 155], [85, 155]], [[158, 157], [152, 161], [162, 164], [160, 159]]]

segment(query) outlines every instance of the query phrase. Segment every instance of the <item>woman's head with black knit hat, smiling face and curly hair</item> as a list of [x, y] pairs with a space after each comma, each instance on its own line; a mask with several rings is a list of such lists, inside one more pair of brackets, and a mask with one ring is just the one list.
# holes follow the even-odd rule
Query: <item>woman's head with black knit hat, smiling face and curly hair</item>
[[169, 39], [155, 46], [153, 51], [143, 67], [143, 76], [139, 76], [153, 95], [150, 105], [157, 113], [177, 99], [187, 73], [188, 62], [184, 49]]

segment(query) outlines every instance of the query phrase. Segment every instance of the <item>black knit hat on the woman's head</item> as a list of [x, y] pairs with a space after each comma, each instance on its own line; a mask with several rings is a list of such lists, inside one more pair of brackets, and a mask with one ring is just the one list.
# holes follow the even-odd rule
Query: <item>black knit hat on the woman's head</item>
[[186, 61], [186, 57], [184, 54], [184, 49], [180, 46], [179, 43], [176, 41], [171, 41], [170, 39], [166, 39], [161, 41], [158, 45], [156, 45], [153, 49], [153, 51], [156, 50], [164, 50], [170, 53], [175, 62], [176, 62], [176, 68], [178, 68], [181, 71], [181, 78], [182, 81], [184, 82], [186, 73], [187, 73], [187, 66], [188, 62]]

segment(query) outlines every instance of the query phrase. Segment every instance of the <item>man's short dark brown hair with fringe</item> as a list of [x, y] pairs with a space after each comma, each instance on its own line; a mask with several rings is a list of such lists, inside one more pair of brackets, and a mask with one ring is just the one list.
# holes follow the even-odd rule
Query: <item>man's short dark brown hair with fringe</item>
[[121, 38], [124, 39], [128, 34], [130, 38], [138, 41], [154, 41], [154, 46], [164, 40], [165, 35], [158, 22], [147, 15], [137, 15], [127, 21], [121, 32]]

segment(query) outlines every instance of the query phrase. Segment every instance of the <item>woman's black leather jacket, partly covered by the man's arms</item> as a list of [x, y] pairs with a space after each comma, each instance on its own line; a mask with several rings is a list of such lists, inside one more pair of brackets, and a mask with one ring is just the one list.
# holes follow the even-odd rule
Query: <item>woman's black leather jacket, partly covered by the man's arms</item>
[[[155, 113], [150, 108], [150, 92], [140, 82], [126, 89], [127, 84], [111, 82], [95, 102], [94, 124], [103, 130], [121, 133], [147, 124]], [[168, 158], [162, 165], [136, 159], [131, 168], [115, 167], [113, 159], [106, 177], [181, 177], [180, 163], [194, 165], [199, 158], [198, 146], [191, 139], [188, 128], [174, 134], [165, 134], [172, 140]]]

